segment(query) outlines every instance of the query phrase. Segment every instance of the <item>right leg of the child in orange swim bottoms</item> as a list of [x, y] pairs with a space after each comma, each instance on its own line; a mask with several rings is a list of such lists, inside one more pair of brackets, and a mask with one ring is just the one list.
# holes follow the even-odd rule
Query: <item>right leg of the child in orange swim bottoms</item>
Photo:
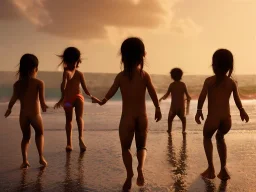
[[76, 99], [75, 101], [75, 112], [76, 112], [76, 122], [78, 127], [78, 135], [79, 135], [79, 145], [80, 151], [86, 151], [86, 146], [83, 141], [83, 130], [84, 130], [84, 120], [83, 120], [83, 113], [84, 113], [84, 102], [81, 99]]

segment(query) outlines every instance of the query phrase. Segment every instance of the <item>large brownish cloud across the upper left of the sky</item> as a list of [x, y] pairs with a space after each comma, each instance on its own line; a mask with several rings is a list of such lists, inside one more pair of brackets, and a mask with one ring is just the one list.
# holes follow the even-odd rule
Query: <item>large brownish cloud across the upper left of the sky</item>
[[1, 9], [9, 11], [0, 18], [17, 18], [16, 13], [21, 11], [42, 32], [72, 39], [104, 38], [106, 27], [150, 29], [159, 26], [166, 14], [161, 1], [14, 0], [14, 8], [10, 1], [3, 0]]

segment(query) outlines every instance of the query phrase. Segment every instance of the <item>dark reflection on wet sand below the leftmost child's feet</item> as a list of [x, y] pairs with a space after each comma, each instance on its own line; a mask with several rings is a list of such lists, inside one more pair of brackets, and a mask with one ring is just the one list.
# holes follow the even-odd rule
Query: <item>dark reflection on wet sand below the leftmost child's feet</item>
[[20, 185], [17, 191], [27, 191], [29, 187], [32, 187], [32, 191], [38, 191], [41, 192], [43, 191], [43, 184], [42, 184], [42, 176], [45, 170], [45, 167], [40, 167], [39, 172], [36, 177], [35, 183], [33, 182], [28, 182], [27, 174], [29, 169], [22, 169], [21, 170], [21, 181]]

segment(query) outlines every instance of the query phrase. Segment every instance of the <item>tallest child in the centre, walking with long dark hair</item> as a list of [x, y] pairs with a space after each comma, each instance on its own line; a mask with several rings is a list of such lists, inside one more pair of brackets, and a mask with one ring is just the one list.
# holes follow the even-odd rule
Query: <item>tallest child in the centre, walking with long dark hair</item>
[[116, 76], [112, 87], [102, 101], [94, 97], [92, 100], [93, 102], [98, 102], [100, 105], [104, 105], [115, 95], [119, 88], [121, 90], [123, 107], [119, 125], [119, 137], [123, 162], [127, 171], [127, 179], [123, 185], [123, 190], [127, 191], [132, 186], [133, 169], [130, 148], [134, 134], [139, 162], [137, 167], [137, 185], [144, 185], [143, 166], [146, 159], [148, 131], [145, 103], [146, 89], [155, 105], [155, 120], [158, 122], [162, 118], [162, 115], [150, 76], [143, 70], [145, 47], [142, 40], [137, 37], [126, 39], [121, 46], [121, 56], [124, 70]]

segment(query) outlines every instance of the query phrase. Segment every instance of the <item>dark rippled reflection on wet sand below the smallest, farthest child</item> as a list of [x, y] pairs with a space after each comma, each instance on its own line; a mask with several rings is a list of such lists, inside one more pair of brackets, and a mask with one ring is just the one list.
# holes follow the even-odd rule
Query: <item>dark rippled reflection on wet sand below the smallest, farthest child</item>
[[175, 147], [173, 145], [172, 134], [169, 134], [168, 138], [168, 161], [173, 166], [174, 174], [174, 186], [173, 188], [177, 192], [186, 190], [185, 175], [187, 167], [187, 142], [186, 134], [183, 134], [182, 146], [179, 152], [179, 159], [176, 159]]

